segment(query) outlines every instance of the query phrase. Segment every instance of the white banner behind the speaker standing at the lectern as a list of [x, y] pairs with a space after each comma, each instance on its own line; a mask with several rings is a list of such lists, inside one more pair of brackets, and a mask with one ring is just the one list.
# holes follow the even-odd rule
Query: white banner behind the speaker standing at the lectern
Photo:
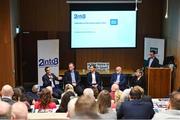
[[164, 61], [164, 39], [144, 38], [144, 60], [148, 59], [151, 50], [156, 52], [159, 64], [162, 65]]

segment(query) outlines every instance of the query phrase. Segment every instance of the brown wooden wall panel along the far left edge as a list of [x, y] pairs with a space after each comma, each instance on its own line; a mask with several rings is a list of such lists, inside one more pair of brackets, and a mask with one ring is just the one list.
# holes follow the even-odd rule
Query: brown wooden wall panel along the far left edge
[[0, 89], [4, 84], [14, 86], [11, 46], [10, 0], [0, 0]]

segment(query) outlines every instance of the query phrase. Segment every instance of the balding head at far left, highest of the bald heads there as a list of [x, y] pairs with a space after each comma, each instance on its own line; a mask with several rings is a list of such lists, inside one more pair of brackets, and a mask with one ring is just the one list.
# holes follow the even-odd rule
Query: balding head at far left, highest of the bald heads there
[[8, 84], [4, 85], [2, 87], [1, 94], [2, 94], [2, 97], [6, 96], [6, 97], [11, 97], [12, 98], [12, 96], [14, 95], [13, 88]]

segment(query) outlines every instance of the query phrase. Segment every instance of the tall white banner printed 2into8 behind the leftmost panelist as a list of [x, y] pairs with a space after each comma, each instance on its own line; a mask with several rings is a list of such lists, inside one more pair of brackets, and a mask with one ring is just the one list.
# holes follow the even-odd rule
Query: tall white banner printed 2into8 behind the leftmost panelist
[[50, 67], [51, 72], [59, 76], [59, 40], [38, 40], [37, 49], [38, 84], [42, 85], [45, 67]]

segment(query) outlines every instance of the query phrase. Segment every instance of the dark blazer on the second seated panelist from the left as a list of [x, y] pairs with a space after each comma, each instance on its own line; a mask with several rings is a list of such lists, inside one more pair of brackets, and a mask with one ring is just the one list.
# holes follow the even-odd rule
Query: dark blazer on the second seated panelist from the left
[[[74, 70], [74, 74], [75, 74], [75, 80], [76, 80], [76, 85], [80, 85], [81, 79], [79, 76], [79, 72]], [[64, 77], [63, 77], [63, 81], [64, 84], [72, 84], [72, 78], [71, 78], [71, 71], [68, 70], [64, 73]]]

